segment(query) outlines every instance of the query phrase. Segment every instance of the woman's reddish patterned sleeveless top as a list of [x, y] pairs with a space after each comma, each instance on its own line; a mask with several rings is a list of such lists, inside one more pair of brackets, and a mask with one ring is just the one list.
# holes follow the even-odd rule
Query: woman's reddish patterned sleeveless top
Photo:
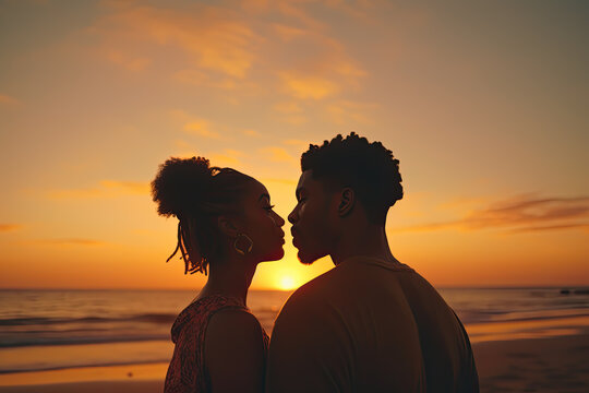
[[[166, 374], [165, 393], [209, 392], [209, 381], [204, 367], [205, 332], [211, 317], [223, 309], [250, 312], [239, 299], [212, 295], [187, 307], [173, 323], [173, 355]], [[268, 335], [262, 327], [264, 349], [268, 349]]]

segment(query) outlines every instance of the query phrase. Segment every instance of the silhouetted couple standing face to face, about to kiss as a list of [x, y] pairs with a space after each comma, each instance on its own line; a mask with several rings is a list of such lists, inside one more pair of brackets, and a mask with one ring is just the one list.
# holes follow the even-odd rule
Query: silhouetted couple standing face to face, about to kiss
[[201, 157], [160, 166], [153, 196], [179, 219], [173, 254], [208, 272], [172, 326], [165, 392], [478, 392], [462, 324], [388, 248], [386, 214], [402, 198], [393, 153], [352, 132], [310, 145], [301, 169], [293, 245], [302, 263], [335, 267], [292, 294], [268, 340], [245, 306], [257, 264], [284, 255], [268, 191]]

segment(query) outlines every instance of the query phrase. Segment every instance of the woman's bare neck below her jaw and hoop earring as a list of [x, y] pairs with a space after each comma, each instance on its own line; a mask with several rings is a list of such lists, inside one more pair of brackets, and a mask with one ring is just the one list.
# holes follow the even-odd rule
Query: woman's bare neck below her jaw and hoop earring
[[245, 261], [215, 262], [209, 265], [208, 281], [197, 298], [223, 295], [238, 298], [245, 306], [256, 265]]

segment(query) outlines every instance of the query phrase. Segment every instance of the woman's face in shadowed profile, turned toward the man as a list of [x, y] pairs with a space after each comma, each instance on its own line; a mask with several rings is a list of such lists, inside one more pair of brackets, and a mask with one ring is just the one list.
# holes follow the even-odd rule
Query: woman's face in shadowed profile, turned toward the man
[[[285, 255], [285, 221], [271, 205], [269, 194], [264, 184], [251, 182], [243, 200], [243, 221], [240, 228], [253, 241], [248, 258], [255, 261], [276, 261]], [[242, 240], [242, 239], [241, 239]], [[248, 247], [248, 240], [238, 241], [238, 247]]]

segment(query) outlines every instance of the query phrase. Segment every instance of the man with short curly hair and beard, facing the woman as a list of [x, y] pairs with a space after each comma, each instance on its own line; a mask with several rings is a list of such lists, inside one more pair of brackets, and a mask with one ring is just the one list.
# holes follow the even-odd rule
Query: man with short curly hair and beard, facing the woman
[[478, 392], [468, 335], [437, 291], [388, 248], [388, 207], [402, 198], [398, 160], [351, 133], [301, 157], [288, 219], [299, 260], [335, 267], [278, 315], [267, 392]]

